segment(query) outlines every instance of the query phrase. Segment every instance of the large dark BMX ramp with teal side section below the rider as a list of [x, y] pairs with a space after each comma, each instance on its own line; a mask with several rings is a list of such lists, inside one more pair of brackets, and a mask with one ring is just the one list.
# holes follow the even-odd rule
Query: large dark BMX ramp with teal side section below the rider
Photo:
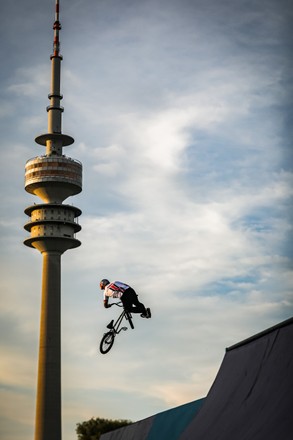
[[226, 349], [206, 399], [189, 421], [185, 420], [185, 429], [180, 433], [176, 433], [178, 419], [164, 418], [164, 414], [174, 411], [169, 410], [161, 413], [156, 437], [150, 436], [153, 416], [104, 434], [101, 440], [292, 440], [292, 408], [290, 318]]

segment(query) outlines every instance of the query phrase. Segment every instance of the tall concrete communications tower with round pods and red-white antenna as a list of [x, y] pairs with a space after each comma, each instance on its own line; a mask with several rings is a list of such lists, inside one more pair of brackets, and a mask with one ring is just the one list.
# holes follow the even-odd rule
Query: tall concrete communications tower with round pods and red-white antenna
[[61, 255], [80, 246], [75, 234], [81, 210], [63, 204], [82, 190], [82, 165], [63, 154], [74, 139], [62, 133], [60, 106], [61, 61], [59, 48], [59, 0], [55, 0], [54, 45], [51, 55], [51, 90], [48, 96], [48, 132], [37, 136], [45, 154], [25, 165], [25, 190], [42, 202], [25, 209], [30, 217], [24, 228], [30, 232], [24, 244], [43, 255], [42, 304], [35, 440], [61, 440]]

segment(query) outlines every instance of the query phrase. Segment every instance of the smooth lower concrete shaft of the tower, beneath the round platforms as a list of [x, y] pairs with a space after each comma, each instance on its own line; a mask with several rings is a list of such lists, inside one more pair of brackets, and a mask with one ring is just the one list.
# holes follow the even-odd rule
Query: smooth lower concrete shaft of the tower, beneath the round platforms
[[36, 440], [61, 439], [60, 252], [43, 252]]

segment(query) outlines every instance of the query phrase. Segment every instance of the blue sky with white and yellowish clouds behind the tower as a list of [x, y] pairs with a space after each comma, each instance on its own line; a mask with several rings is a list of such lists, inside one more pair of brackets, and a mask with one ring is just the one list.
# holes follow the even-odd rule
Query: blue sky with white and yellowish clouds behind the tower
[[[44, 154], [54, 0], [1, 2], [0, 437], [34, 432], [42, 257], [23, 245]], [[64, 153], [83, 164], [62, 256], [63, 438], [205, 397], [225, 348], [292, 316], [292, 4], [61, 0]], [[152, 310], [107, 355], [99, 280]]]

